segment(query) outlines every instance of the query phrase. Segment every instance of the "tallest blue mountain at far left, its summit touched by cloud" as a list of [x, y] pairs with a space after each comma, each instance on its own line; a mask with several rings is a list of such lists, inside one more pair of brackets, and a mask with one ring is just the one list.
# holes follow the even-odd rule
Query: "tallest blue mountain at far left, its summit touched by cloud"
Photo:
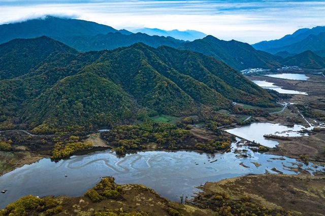
[[[28, 39], [46, 35], [51, 38], [81, 35], [107, 34], [117, 32], [111, 26], [79, 19], [47, 16], [23, 22], [0, 25], [0, 44], [12, 39]], [[122, 33], [129, 31], [121, 30]]]

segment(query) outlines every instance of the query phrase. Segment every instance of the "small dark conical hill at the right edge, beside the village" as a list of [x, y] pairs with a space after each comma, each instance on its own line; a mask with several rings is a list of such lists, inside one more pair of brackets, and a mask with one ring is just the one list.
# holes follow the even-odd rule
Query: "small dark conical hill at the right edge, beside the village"
[[312, 51], [308, 50], [285, 58], [282, 63], [284, 65], [299, 66], [310, 69], [321, 69], [325, 68], [325, 59], [316, 55]]

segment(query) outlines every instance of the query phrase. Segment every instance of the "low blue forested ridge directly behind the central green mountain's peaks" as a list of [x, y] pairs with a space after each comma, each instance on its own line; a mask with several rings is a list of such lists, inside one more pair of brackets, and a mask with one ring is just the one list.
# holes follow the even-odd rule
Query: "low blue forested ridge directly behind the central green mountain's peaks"
[[176, 40], [171, 37], [150, 36], [145, 33], [122, 34], [120, 32], [98, 34], [95, 36], [60, 37], [56, 39], [82, 52], [92, 50], [113, 50], [139, 42], [151, 47], [159, 47], [161, 45], [178, 47], [184, 43], [184, 41]]

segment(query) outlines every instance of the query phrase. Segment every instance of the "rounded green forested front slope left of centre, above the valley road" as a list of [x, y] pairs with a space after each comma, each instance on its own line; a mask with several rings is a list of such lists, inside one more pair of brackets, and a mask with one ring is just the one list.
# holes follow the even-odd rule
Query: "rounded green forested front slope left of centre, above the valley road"
[[[26, 122], [56, 128], [58, 125], [79, 125], [84, 129], [111, 126], [132, 119], [137, 103], [111, 81], [84, 72], [58, 81], [29, 103]], [[68, 128], [69, 130], [69, 128]]]

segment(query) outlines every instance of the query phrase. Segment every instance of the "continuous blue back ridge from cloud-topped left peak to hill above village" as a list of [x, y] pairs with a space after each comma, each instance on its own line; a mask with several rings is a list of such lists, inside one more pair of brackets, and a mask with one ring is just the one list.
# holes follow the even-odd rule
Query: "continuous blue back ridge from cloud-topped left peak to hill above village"
[[[11, 30], [7, 31], [9, 25]], [[23, 32], [26, 34], [24, 35]], [[118, 31], [110, 26], [93, 22], [56, 17], [0, 25], [0, 39], [3, 41], [9, 38], [34, 38], [41, 35], [51, 37], [82, 52], [112, 50], [141, 42], [155, 48], [164, 45], [201, 52], [238, 70], [255, 67], [271, 69], [280, 67], [280, 63], [276, 62], [276, 57], [262, 51], [256, 51], [249, 44], [234, 40], [226, 42], [211, 35], [193, 42], [185, 42], [172, 37], [132, 33], [125, 29]], [[198, 44], [201, 44], [202, 47], [200, 48]]]

